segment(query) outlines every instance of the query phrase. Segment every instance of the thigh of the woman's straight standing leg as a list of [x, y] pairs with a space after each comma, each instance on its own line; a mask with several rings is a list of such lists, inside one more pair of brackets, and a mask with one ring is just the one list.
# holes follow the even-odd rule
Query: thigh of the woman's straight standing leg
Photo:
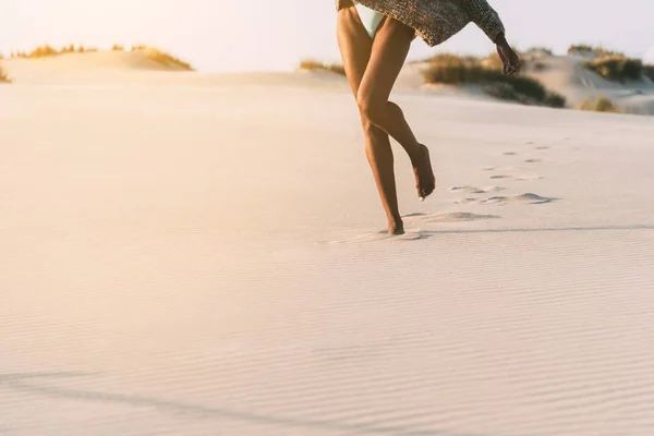
[[373, 39], [365, 31], [354, 5], [338, 12], [337, 39], [350, 88], [356, 97], [371, 58]]

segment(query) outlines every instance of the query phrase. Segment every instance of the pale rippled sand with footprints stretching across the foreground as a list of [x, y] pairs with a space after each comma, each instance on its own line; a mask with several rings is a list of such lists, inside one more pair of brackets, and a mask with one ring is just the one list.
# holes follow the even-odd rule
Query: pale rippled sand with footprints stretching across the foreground
[[0, 435], [654, 434], [651, 118], [399, 89], [389, 238], [340, 77], [12, 74]]

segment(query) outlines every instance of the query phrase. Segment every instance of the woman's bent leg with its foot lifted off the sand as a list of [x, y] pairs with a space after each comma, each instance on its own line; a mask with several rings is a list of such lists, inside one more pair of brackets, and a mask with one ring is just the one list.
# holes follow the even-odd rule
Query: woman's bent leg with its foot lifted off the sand
[[415, 32], [399, 21], [387, 19], [384, 22], [375, 35], [356, 101], [370, 122], [404, 148], [413, 165], [417, 194], [426, 197], [435, 187], [429, 152], [417, 142], [399, 106], [388, 100], [414, 37]]

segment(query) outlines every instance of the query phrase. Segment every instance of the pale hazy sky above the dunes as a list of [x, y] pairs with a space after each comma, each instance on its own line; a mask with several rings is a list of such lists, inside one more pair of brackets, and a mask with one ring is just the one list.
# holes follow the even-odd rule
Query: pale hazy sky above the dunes
[[[398, 0], [400, 1], [400, 0]], [[434, 0], [438, 1], [438, 0]], [[654, 0], [489, 0], [519, 49], [602, 45], [654, 63]], [[0, 52], [43, 44], [147, 44], [199, 71], [283, 71], [304, 58], [340, 60], [334, 0], [0, 0]], [[410, 59], [434, 52], [487, 55], [473, 24]]]

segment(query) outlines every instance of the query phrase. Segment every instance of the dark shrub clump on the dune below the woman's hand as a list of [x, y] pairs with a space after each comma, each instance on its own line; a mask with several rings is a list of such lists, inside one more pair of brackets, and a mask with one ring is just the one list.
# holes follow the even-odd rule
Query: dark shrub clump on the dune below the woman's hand
[[484, 86], [488, 95], [505, 100], [553, 108], [566, 107], [566, 98], [548, 92], [541, 82], [531, 77], [502, 74], [501, 61], [497, 55], [485, 59], [437, 55], [427, 62], [429, 65], [423, 71], [425, 83], [479, 84]]

